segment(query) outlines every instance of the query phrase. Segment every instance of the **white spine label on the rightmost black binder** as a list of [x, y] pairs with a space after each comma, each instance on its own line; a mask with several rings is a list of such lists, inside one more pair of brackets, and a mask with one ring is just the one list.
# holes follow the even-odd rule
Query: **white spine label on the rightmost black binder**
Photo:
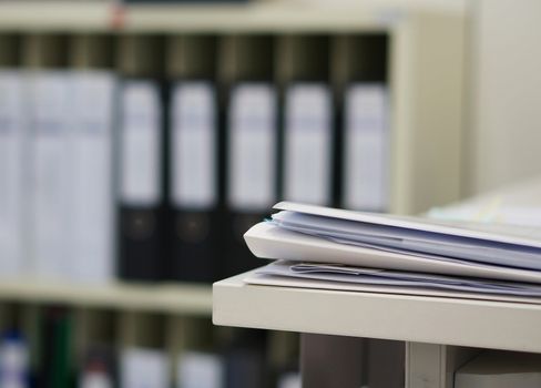
[[388, 205], [388, 108], [384, 85], [351, 85], [345, 100], [344, 204], [385, 211]]

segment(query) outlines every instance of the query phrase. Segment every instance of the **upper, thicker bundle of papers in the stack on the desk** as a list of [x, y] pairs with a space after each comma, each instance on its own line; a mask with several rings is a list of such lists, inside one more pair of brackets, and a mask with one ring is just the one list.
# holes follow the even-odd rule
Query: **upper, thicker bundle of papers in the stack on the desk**
[[252, 227], [258, 257], [541, 283], [537, 228], [449, 226], [430, 219], [279, 203]]

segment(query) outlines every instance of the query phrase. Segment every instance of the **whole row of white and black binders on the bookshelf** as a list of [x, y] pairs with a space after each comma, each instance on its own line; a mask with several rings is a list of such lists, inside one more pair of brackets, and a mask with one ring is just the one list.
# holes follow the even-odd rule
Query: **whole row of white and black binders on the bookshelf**
[[0, 72], [2, 275], [212, 282], [258, 264], [242, 235], [278, 198], [387, 207], [385, 83], [224, 91], [164, 82], [144, 41], [93, 69], [86, 43], [74, 69]]

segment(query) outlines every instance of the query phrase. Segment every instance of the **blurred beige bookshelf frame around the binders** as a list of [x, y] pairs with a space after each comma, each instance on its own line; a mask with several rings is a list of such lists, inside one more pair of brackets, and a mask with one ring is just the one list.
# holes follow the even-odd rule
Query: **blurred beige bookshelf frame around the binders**
[[[182, 54], [195, 54], [191, 60], [183, 60], [182, 54], [171, 57], [172, 61], [161, 58], [163, 80], [201, 75], [201, 71], [216, 80], [224, 95], [238, 79], [264, 74], [277, 85], [283, 99], [288, 82], [314, 72], [330, 85], [337, 104], [341, 103], [347, 82], [376, 69], [376, 78], [385, 81], [390, 99], [388, 208], [411, 214], [460, 197], [465, 12], [461, 4], [422, 1], [351, 1], [336, 6], [267, 0], [205, 7], [120, 7], [106, 0], [0, 1], [0, 44], [2, 38], [16, 37], [22, 50], [31, 51], [42, 37], [54, 35], [76, 52], [86, 37], [99, 35], [108, 42], [103, 47], [106, 55], [118, 60], [120, 52], [130, 51], [126, 42], [152, 38], [163, 43], [165, 51], [180, 48]], [[259, 50], [258, 44], [268, 41], [272, 49]], [[317, 67], [298, 54], [306, 43], [315, 48], [312, 53], [306, 50], [306, 55], [313, 54], [320, 62]], [[215, 63], [197, 55], [200, 50], [207, 51]], [[268, 58], [270, 63], [254, 59], [254, 53]], [[52, 62], [58, 62], [53, 57], [64, 54], [51, 51]], [[25, 55], [32, 64], [33, 54]], [[239, 60], [239, 55], [246, 60]], [[64, 62], [73, 68], [76, 59]], [[191, 344], [197, 347], [198, 341], [208, 348], [208, 343], [228, 336], [210, 334], [208, 284], [115, 280], [91, 286], [27, 277], [0, 280], [0, 307], [4, 313], [0, 327], [13, 321], [28, 326], [44, 305], [73, 308], [80, 353], [96, 331], [94, 337], [112, 338], [119, 348], [157, 344], [172, 358]], [[108, 326], [103, 329], [108, 335], [100, 334], [103, 325]], [[163, 333], [156, 336], [155, 331]]]

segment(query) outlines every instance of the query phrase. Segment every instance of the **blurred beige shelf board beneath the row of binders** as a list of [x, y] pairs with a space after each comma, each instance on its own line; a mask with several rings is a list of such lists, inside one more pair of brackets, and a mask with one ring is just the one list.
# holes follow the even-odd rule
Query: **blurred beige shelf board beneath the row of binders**
[[21, 278], [0, 280], [0, 300], [208, 316], [212, 292], [196, 284], [74, 285]]

